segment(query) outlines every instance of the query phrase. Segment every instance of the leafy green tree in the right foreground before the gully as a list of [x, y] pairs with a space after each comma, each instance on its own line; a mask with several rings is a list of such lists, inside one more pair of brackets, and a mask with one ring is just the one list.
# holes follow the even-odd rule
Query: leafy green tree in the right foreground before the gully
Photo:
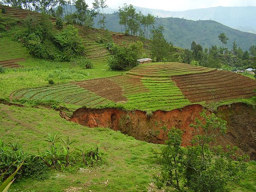
[[224, 152], [222, 146], [212, 145], [216, 137], [226, 133], [227, 122], [213, 113], [207, 115], [206, 110], [200, 116], [190, 124], [195, 130], [191, 146], [180, 146], [180, 130], [172, 129], [168, 133], [169, 140], [159, 156], [162, 169], [161, 175], [156, 177], [157, 186], [165, 184], [183, 191], [224, 192], [228, 182], [239, 180], [246, 173], [244, 160], [247, 156], [238, 155], [236, 147], [227, 145], [227, 152]]

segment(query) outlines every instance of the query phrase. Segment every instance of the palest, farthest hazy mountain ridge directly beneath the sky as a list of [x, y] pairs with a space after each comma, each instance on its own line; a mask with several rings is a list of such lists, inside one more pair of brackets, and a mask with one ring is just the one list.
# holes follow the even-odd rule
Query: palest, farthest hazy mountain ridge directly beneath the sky
[[[190, 20], [214, 20], [225, 26], [242, 30], [249, 33], [256, 33], [256, 7], [210, 7], [204, 9], [192, 9], [182, 12], [165, 11], [161, 9], [148, 9], [136, 7], [137, 12], [152, 14], [158, 17], [178, 17]], [[113, 13], [118, 9], [107, 8], [106, 13]]]

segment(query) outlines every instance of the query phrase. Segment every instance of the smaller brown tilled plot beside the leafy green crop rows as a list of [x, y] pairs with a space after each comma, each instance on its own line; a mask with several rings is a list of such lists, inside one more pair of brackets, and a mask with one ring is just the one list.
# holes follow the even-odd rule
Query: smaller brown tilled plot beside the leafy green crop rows
[[123, 96], [122, 87], [107, 78], [73, 82], [73, 84], [114, 102], [127, 101], [127, 98]]

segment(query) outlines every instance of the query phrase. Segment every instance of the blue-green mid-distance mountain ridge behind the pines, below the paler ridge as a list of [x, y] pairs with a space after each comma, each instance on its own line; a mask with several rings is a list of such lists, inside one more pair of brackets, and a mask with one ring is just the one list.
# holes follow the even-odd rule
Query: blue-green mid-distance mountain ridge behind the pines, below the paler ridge
[[[95, 17], [95, 27], [99, 28], [98, 19]], [[118, 13], [106, 14], [106, 26], [111, 31], [121, 32]], [[171, 17], [156, 18], [154, 26], [156, 28], [164, 26], [163, 33], [166, 40], [177, 47], [187, 49], [190, 49], [192, 41], [201, 44], [204, 48], [209, 48], [211, 45], [222, 46], [218, 39], [220, 33], [225, 33], [229, 38], [227, 44], [229, 49], [231, 49], [234, 41], [243, 50], [248, 50], [252, 44], [256, 44], [256, 34], [242, 32], [212, 20], [192, 21]]]

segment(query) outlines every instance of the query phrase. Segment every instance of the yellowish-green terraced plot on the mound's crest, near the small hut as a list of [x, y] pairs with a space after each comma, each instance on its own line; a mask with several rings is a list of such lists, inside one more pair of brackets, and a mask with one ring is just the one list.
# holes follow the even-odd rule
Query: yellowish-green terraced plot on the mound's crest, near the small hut
[[173, 75], [184, 75], [191, 73], [203, 73], [214, 70], [201, 66], [192, 66], [185, 63], [166, 64], [142, 64], [130, 70], [130, 75], [140, 75], [145, 77], [171, 77]]

